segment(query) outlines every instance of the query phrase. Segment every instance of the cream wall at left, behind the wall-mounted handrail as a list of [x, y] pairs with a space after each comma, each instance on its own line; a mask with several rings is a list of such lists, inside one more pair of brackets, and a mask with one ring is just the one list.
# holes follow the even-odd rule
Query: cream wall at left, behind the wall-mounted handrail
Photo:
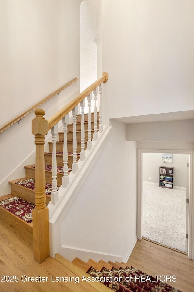
[[[0, 30], [0, 125], [3, 125], [74, 77], [79, 78], [80, 3], [2, 0]], [[42, 105], [45, 118], [49, 119], [78, 93], [79, 81]], [[29, 114], [19, 125], [16, 123], [0, 134], [3, 170], [0, 184], [7, 176], [8, 179], [25, 176], [23, 167], [13, 176], [9, 174], [35, 149], [31, 134], [34, 116]], [[35, 162], [32, 160], [28, 163]]]

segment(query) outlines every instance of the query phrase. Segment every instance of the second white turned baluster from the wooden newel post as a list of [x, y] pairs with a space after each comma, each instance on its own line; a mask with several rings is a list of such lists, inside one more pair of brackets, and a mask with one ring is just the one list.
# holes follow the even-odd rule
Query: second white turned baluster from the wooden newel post
[[67, 154], [67, 125], [69, 123], [69, 114], [67, 114], [63, 119], [63, 132], [64, 132], [64, 138], [63, 138], [63, 178], [62, 178], [62, 184], [63, 187], [66, 188], [69, 184], [69, 177], [68, 177], [68, 154]]

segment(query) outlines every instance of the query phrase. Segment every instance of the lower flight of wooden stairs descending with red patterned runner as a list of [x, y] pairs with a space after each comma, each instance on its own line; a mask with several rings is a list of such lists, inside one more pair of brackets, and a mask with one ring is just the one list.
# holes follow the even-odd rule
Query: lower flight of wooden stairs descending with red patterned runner
[[[55, 260], [62, 264], [65, 269], [69, 269], [79, 277], [79, 283], [86, 282], [95, 288], [96, 291], [108, 292], [181, 292], [180, 290], [164, 283], [155, 276], [150, 276], [139, 269], [129, 267], [124, 262], [95, 262], [89, 259], [84, 262], [75, 258], [72, 262], [67, 261], [61, 255], [56, 254]], [[78, 279], [78, 278], [77, 278]], [[79, 288], [77, 289], [79, 291]]]

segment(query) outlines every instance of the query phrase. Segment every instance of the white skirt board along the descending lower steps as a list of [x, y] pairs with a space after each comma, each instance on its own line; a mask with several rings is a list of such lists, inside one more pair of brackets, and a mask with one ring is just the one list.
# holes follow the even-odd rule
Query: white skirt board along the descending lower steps
[[99, 262], [103, 260], [105, 262], [122, 262], [122, 256], [111, 255], [102, 252], [95, 252], [92, 250], [84, 250], [81, 248], [74, 248], [71, 246], [62, 245], [59, 246], [57, 253], [62, 255], [65, 259], [72, 262], [76, 257], [82, 259], [82, 261], [87, 262], [89, 259]]

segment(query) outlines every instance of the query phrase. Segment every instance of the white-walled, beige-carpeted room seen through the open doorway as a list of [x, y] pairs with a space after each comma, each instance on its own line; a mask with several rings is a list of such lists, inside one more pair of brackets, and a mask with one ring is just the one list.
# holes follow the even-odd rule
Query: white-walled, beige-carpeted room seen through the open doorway
[[[186, 252], [187, 155], [143, 153], [143, 237]], [[172, 153], [171, 153], [172, 154]], [[159, 187], [160, 167], [172, 167], [173, 188]]]

